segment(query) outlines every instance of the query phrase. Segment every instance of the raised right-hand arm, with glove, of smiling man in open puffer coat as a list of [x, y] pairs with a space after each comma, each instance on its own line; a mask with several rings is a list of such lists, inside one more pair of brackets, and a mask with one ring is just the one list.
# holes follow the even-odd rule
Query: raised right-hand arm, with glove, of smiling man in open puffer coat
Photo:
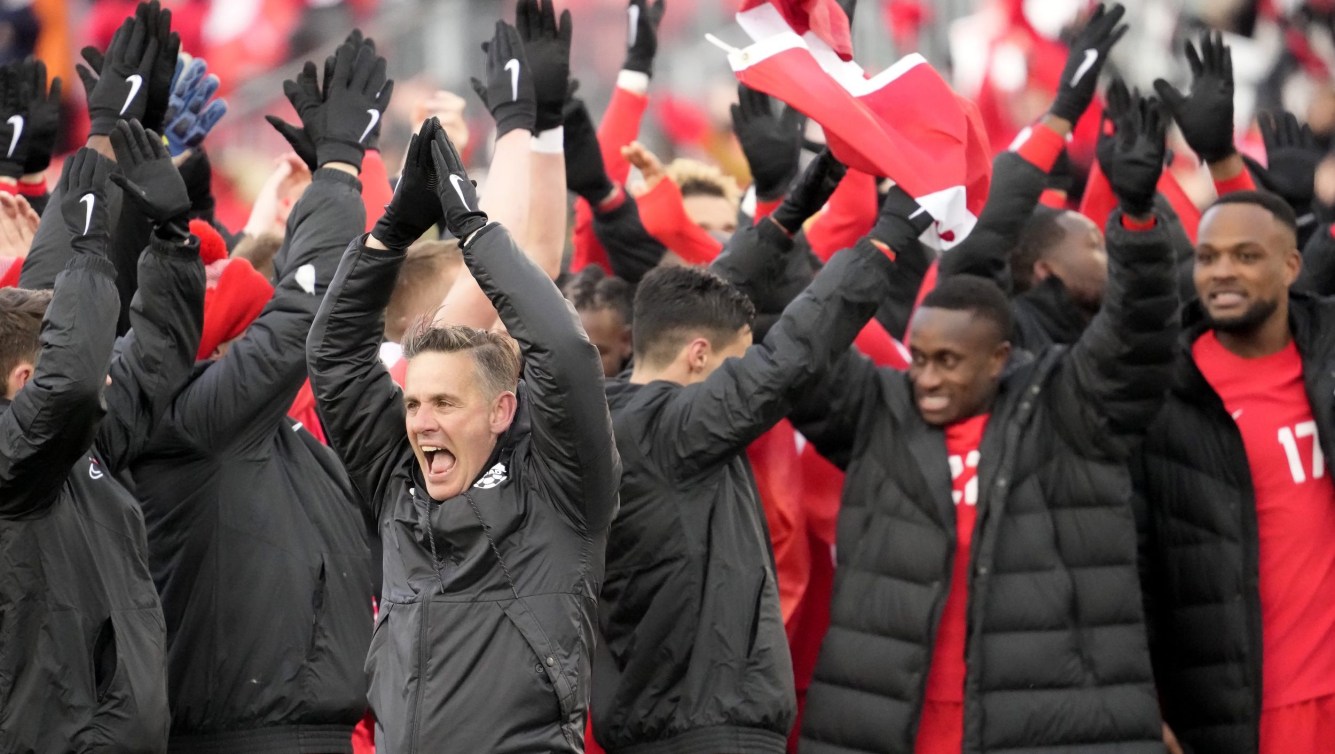
[[1159, 412], [1180, 326], [1173, 250], [1153, 215], [1168, 117], [1141, 100], [1117, 135], [1108, 176], [1121, 208], [1108, 222], [1108, 290], [1051, 388], [1060, 431], [1092, 456], [1123, 459]]

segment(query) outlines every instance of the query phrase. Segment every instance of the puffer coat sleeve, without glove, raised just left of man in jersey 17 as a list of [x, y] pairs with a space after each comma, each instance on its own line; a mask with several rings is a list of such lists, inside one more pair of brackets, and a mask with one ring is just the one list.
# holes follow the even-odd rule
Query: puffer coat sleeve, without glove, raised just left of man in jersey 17
[[1108, 220], [1103, 307], [1051, 384], [1057, 430], [1092, 458], [1125, 459], [1167, 396], [1181, 328], [1173, 251], [1160, 220], [1147, 231]]

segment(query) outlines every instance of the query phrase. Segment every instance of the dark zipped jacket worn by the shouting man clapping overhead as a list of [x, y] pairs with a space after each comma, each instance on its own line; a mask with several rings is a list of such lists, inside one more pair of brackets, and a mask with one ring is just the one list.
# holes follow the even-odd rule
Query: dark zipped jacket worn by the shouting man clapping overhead
[[499, 226], [463, 259], [523, 352], [487, 470], [433, 500], [378, 351], [403, 252], [354, 242], [307, 342], [330, 443], [384, 544], [367, 658], [376, 749], [583, 751], [595, 603], [621, 463], [574, 310]]

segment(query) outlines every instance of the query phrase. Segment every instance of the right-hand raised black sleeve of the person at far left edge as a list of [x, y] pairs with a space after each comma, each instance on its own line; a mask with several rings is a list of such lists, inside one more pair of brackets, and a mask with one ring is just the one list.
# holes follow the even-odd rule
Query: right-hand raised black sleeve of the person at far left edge
[[151, 236], [139, 259], [131, 330], [116, 344], [107, 388], [107, 419], [97, 450], [112, 472], [129, 466], [190, 376], [204, 326], [204, 266], [199, 239]]

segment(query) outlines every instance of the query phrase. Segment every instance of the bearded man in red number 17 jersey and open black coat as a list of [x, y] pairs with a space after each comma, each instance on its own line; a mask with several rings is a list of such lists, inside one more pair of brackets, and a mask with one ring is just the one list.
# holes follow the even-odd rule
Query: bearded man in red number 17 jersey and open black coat
[[1335, 731], [1335, 300], [1291, 292], [1300, 267], [1283, 199], [1206, 211], [1136, 464], [1159, 698], [1187, 750], [1328, 751]]

